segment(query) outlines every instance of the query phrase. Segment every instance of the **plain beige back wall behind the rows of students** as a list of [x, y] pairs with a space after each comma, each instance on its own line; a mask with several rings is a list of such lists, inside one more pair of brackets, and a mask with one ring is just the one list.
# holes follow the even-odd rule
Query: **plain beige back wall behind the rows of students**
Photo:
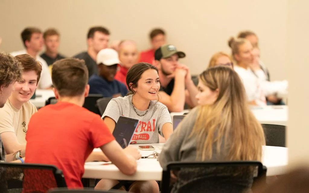
[[272, 79], [286, 79], [286, 9], [287, 0], [1, 0], [0, 49], [22, 49], [24, 27], [56, 27], [60, 51], [70, 57], [87, 48], [90, 26], [103, 25], [111, 40], [132, 39], [142, 50], [149, 47], [150, 29], [163, 27], [168, 42], [187, 54], [181, 62], [197, 74], [214, 52], [230, 53], [230, 36], [251, 29], [260, 37], [261, 57]]

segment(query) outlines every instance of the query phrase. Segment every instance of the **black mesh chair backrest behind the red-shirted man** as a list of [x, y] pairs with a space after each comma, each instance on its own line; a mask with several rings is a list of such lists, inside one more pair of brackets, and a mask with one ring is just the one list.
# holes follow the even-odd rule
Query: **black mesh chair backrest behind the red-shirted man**
[[53, 165], [0, 163], [0, 192], [7, 191], [7, 182], [22, 181], [23, 193], [45, 193], [50, 188], [66, 187], [61, 170]]

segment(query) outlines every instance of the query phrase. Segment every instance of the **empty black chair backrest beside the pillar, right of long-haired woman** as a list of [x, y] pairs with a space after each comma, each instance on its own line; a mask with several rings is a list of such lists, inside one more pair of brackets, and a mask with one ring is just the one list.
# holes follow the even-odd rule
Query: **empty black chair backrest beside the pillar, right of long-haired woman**
[[262, 124], [266, 145], [286, 147], [286, 126]]

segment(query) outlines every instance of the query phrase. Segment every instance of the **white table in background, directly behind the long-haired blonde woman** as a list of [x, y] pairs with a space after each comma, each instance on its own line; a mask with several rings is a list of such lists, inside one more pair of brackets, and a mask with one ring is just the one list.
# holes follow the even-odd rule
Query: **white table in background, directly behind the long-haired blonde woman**
[[[276, 124], [276, 125], [287, 125], [288, 120], [288, 107], [286, 105], [273, 105], [265, 107], [251, 107], [253, 114], [260, 124]], [[171, 119], [173, 120], [174, 115], [183, 115], [188, 113], [189, 110], [181, 112], [171, 112]]]

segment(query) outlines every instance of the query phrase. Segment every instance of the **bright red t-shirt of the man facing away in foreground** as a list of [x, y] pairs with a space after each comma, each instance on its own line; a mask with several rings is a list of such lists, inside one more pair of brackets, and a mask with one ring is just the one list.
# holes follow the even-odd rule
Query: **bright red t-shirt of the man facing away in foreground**
[[25, 162], [51, 164], [63, 171], [68, 187], [83, 187], [84, 164], [94, 148], [115, 138], [99, 115], [58, 102], [31, 117]]

